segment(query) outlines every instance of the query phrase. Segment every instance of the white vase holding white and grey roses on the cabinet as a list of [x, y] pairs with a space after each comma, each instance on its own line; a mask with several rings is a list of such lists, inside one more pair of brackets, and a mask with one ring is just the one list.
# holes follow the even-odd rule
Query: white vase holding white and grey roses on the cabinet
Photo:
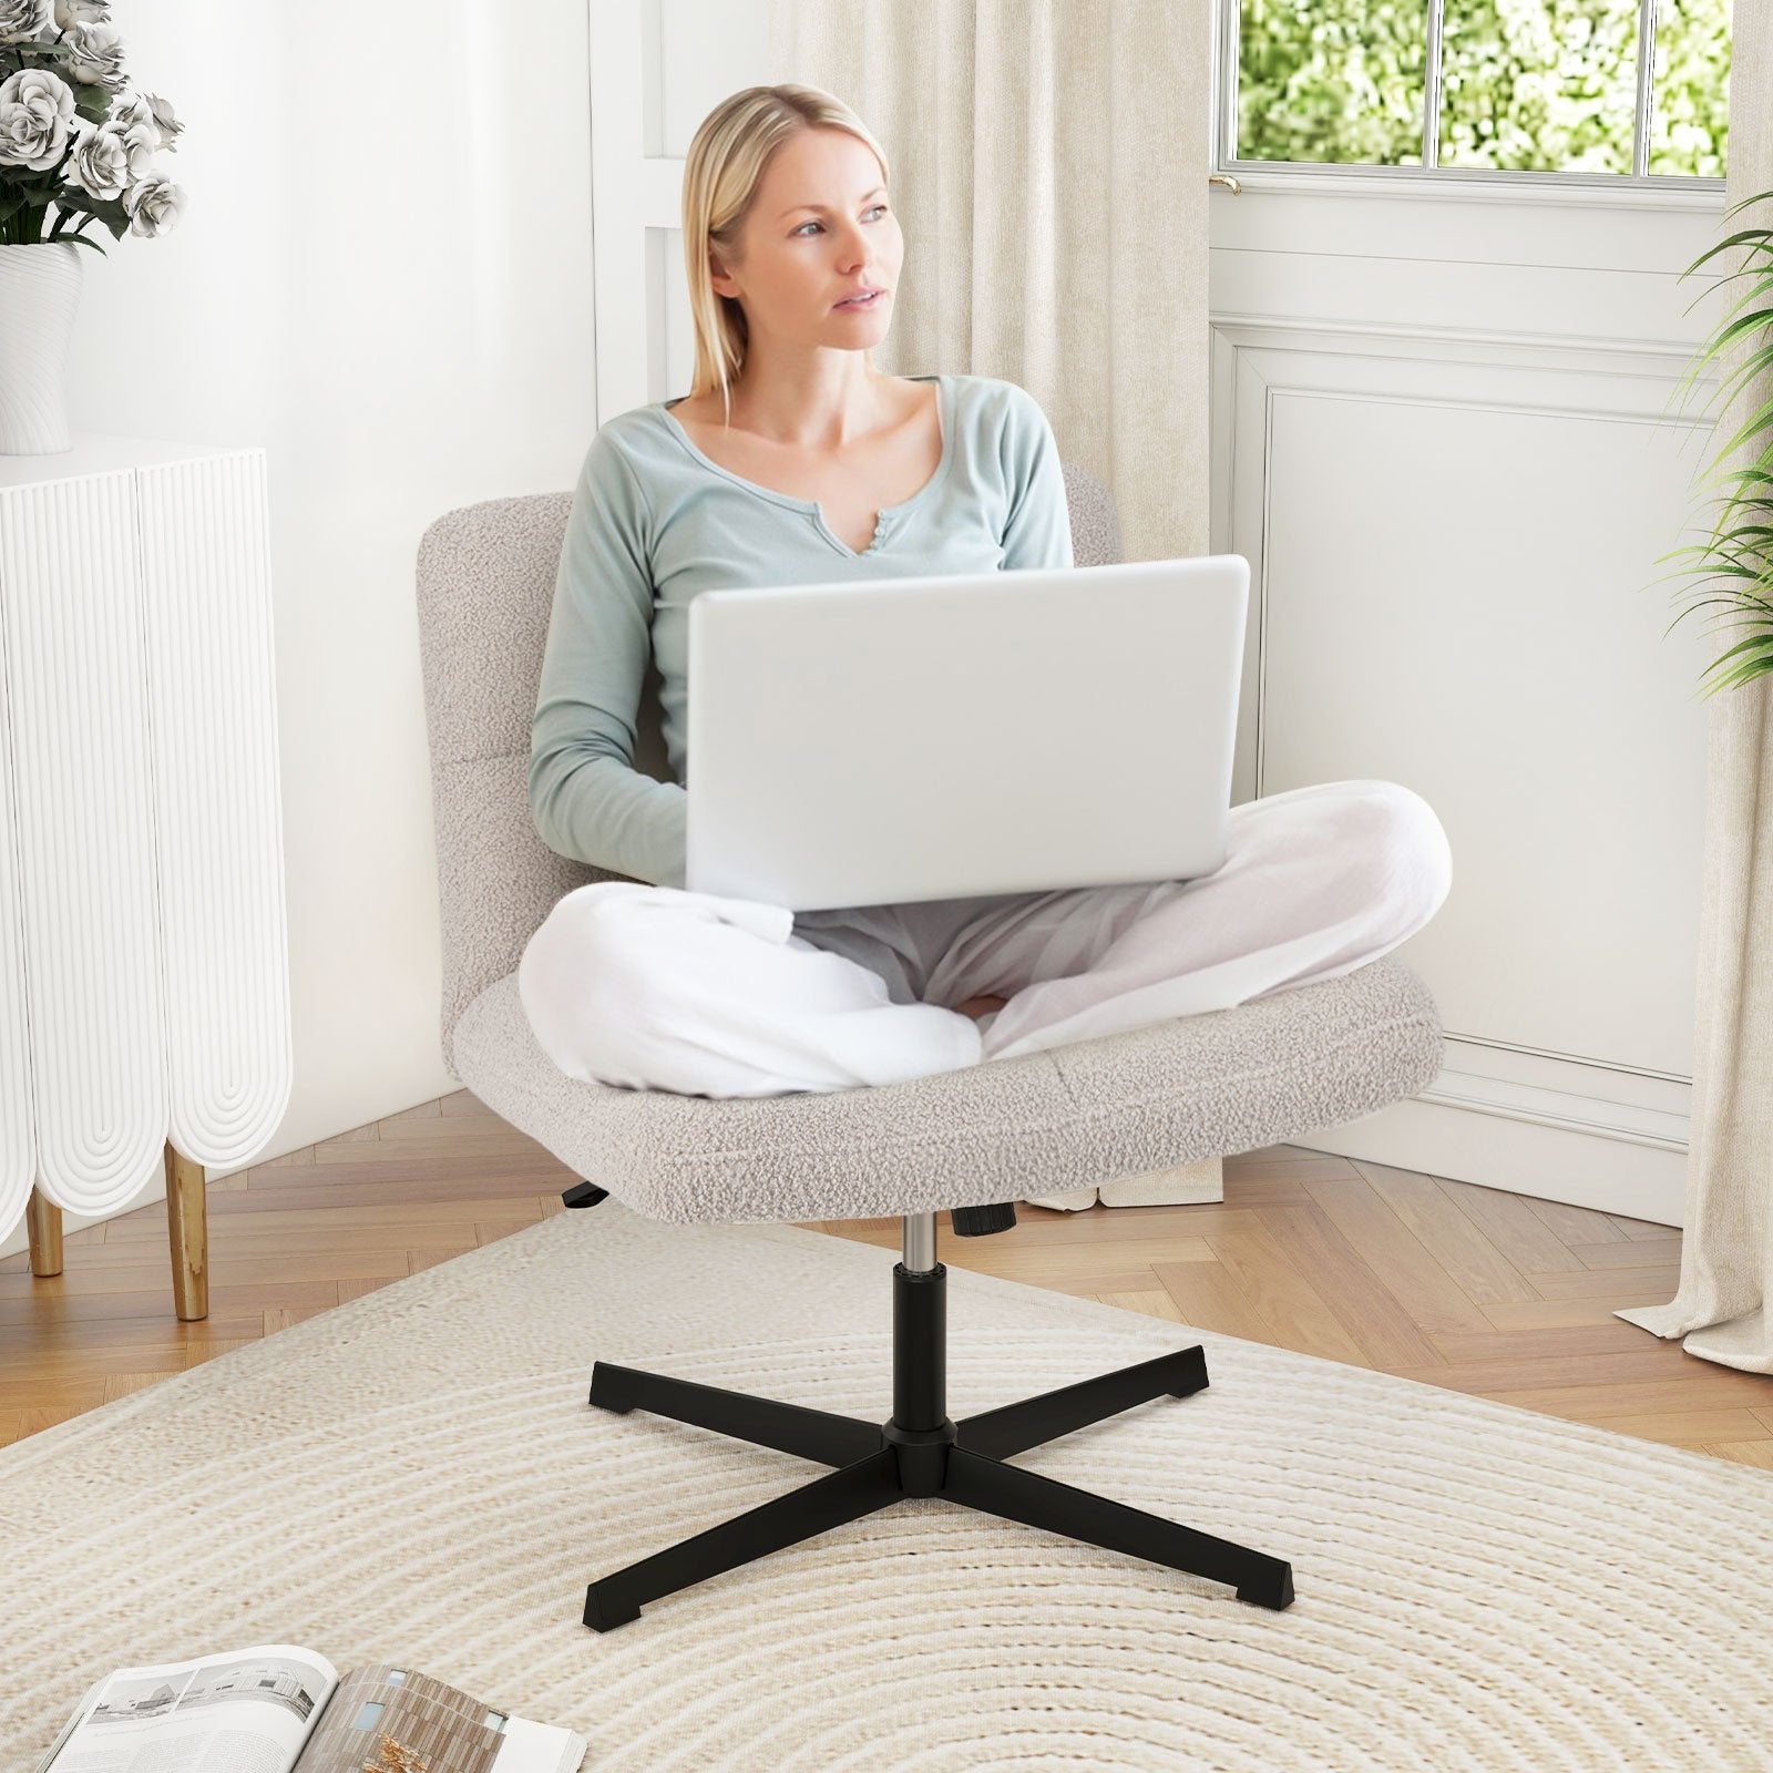
[[108, 0], [0, 0], [0, 456], [73, 447], [64, 363], [80, 301], [76, 248], [165, 234], [184, 191], [152, 156], [183, 124], [124, 98]]

